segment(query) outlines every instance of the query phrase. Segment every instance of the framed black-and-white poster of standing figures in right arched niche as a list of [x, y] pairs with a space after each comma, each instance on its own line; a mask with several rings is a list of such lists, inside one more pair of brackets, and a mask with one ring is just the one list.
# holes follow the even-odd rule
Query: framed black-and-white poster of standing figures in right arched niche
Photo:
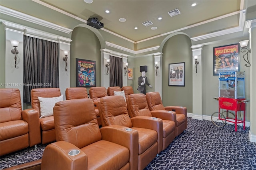
[[185, 86], [185, 62], [169, 64], [169, 86]]

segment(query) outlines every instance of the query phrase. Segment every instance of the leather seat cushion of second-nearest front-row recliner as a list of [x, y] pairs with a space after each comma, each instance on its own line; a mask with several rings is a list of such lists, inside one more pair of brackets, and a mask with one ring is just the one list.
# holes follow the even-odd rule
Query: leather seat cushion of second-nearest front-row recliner
[[157, 141], [157, 132], [147, 128], [133, 127], [139, 133], [139, 151], [138, 154], [145, 152], [150, 146]]

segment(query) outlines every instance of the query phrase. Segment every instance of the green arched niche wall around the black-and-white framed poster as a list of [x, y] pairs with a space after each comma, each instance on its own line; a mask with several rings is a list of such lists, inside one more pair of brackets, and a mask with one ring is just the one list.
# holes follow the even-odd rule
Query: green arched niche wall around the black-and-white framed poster
[[[171, 37], [163, 47], [162, 57], [162, 101], [164, 106], [187, 107], [192, 113], [192, 50], [191, 40], [186, 35]], [[185, 62], [185, 87], [169, 85], [169, 64]]]

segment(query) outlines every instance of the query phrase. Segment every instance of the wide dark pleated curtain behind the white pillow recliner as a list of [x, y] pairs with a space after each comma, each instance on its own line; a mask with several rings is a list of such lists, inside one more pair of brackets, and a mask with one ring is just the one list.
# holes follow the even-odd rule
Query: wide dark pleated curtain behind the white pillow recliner
[[58, 43], [24, 36], [24, 102], [31, 89], [59, 87]]

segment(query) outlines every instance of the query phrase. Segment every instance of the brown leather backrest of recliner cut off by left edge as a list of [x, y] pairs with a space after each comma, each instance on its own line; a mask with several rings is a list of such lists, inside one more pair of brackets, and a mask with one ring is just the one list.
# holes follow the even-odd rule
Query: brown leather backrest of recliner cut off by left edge
[[22, 120], [19, 89], [0, 89], [0, 123]]

